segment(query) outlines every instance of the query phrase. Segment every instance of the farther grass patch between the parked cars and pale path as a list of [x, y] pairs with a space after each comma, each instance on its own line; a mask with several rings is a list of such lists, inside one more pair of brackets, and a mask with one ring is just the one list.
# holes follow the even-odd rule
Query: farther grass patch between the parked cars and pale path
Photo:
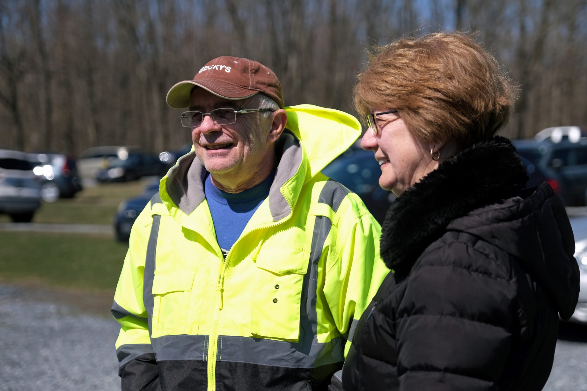
[[[54, 203], [42, 202], [33, 222], [110, 225], [120, 202], [139, 195], [150, 180], [102, 183], [83, 189], [75, 198], [62, 198]], [[0, 222], [10, 221], [8, 215], [0, 215]]]

